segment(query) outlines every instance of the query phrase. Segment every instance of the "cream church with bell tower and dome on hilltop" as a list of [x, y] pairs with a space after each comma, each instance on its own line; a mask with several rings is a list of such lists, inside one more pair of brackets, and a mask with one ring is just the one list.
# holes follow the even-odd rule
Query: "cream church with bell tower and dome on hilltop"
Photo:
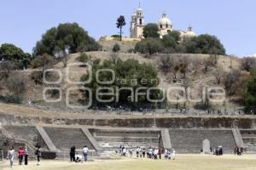
[[[170, 31], [174, 31], [172, 21], [168, 18], [167, 14], [162, 14], [162, 17], [157, 23], [159, 28], [160, 37], [168, 34]], [[136, 12], [131, 15], [131, 27], [130, 37], [131, 38], [143, 38], [143, 28], [145, 26], [145, 19], [143, 14], [143, 8], [141, 5], [137, 8]], [[192, 31], [192, 27], [189, 26], [188, 31], [179, 31], [181, 41], [185, 38], [195, 37], [196, 34]]]

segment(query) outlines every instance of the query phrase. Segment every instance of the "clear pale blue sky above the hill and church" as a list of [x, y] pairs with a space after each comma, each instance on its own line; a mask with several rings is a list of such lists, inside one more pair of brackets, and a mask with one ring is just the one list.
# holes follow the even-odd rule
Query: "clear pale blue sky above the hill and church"
[[175, 29], [191, 25], [197, 34], [215, 35], [227, 54], [256, 54], [255, 0], [1, 0], [0, 43], [31, 53], [46, 30], [64, 22], [77, 22], [98, 39], [118, 32], [120, 14], [129, 36], [131, 14], [139, 3], [146, 23], [157, 22], [166, 11]]

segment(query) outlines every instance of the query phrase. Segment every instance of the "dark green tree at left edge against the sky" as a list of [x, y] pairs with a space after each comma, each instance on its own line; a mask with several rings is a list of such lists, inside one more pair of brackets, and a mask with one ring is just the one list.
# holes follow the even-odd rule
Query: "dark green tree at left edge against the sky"
[[24, 53], [21, 48], [14, 44], [4, 43], [0, 47], [0, 60], [8, 60], [16, 65], [16, 69], [27, 68], [32, 60], [31, 54]]

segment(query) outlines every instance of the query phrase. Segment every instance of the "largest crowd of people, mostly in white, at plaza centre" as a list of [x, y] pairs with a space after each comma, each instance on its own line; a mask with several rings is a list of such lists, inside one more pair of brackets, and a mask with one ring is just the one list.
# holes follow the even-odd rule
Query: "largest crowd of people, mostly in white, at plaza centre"
[[132, 148], [126, 148], [125, 146], [121, 145], [119, 153], [121, 156], [133, 156], [133, 153], [136, 152], [136, 157], [139, 158], [148, 158], [148, 159], [161, 159], [162, 156], [165, 157], [165, 159], [175, 159], [176, 151], [174, 149], [172, 150], [163, 150], [160, 148], [151, 148], [149, 147], [147, 150], [143, 147], [137, 146], [136, 150], [134, 151]]

